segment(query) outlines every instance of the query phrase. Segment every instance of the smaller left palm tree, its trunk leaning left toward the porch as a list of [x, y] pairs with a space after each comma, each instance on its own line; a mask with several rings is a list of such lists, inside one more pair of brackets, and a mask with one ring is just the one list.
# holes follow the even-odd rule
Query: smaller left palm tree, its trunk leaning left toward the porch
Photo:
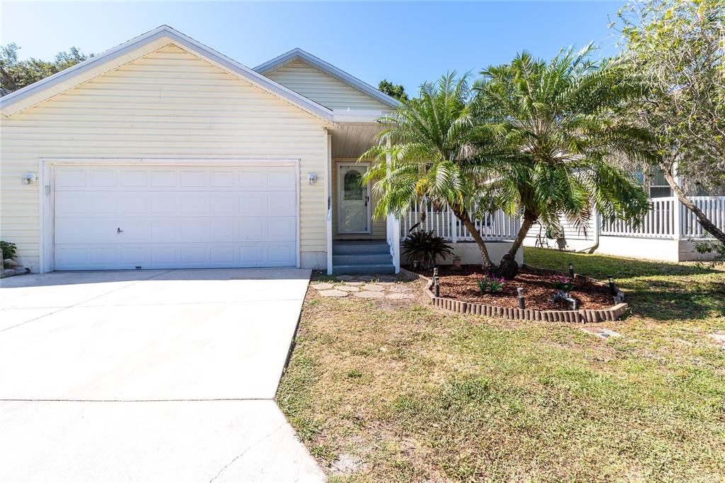
[[[475, 146], [473, 117], [469, 110], [468, 75], [442, 76], [423, 83], [415, 99], [402, 104], [379, 121], [384, 125], [378, 144], [360, 156], [375, 162], [365, 175], [380, 194], [376, 216], [393, 212], [401, 216], [415, 203], [450, 207], [479, 246], [483, 267], [493, 267], [486, 243], [473, 224], [483, 207], [481, 182], [487, 177], [483, 163], [468, 160]], [[485, 143], [479, 141], [479, 151]], [[421, 213], [425, 210], [421, 210]]]

